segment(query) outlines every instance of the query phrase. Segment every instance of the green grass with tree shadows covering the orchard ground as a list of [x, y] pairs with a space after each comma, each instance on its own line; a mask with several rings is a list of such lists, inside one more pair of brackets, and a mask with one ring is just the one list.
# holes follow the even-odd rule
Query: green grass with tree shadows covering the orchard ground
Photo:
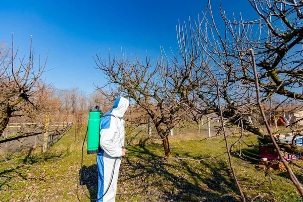
[[[192, 130], [192, 128], [190, 129]], [[0, 160], [0, 201], [89, 201], [79, 183], [83, 133], [74, 142], [74, 131], [69, 131], [46, 154], [35, 151], [5, 154], [9, 164]], [[136, 131], [132, 131], [132, 135]], [[127, 135], [130, 139], [132, 135]], [[181, 129], [170, 136], [174, 157], [203, 159], [225, 152], [223, 137], [198, 141], [204, 134]], [[196, 139], [197, 138], [197, 139]], [[128, 147], [122, 159], [116, 201], [236, 201], [238, 190], [230, 173], [227, 155], [202, 162], [166, 159], [161, 142], [145, 141], [142, 132]], [[235, 141], [229, 138], [229, 143]], [[256, 143], [255, 136], [244, 138]], [[134, 144], [136, 143], [136, 144]], [[300, 201], [301, 197], [285, 171], [258, 172], [258, 149], [242, 144], [244, 159], [234, 150], [232, 163], [245, 196], [254, 201]], [[245, 155], [245, 156], [244, 156]], [[13, 167], [17, 167], [16, 169]], [[300, 182], [303, 161], [290, 164]], [[84, 187], [96, 197], [97, 171], [95, 155], [84, 149]], [[230, 194], [229, 196], [223, 196]]]

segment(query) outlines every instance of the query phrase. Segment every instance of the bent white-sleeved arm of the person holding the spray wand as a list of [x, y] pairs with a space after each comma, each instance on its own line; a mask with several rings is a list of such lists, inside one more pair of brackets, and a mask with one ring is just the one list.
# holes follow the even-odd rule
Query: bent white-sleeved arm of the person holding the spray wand
[[100, 131], [100, 147], [111, 157], [122, 157], [122, 148], [114, 144], [114, 138], [118, 131], [113, 128]]

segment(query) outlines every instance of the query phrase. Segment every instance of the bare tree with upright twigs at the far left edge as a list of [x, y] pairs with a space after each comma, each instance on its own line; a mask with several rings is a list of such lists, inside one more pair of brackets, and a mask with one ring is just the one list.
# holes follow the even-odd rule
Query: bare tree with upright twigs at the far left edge
[[18, 49], [7, 48], [2, 45], [0, 51], [0, 134], [6, 128], [11, 117], [24, 116], [26, 108], [41, 110], [41, 99], [44, 96], [36, 96], [49, 86], [39, 81], [46, 65], [40, 63], [38, 57], [35, 66], [34, 49], [32, 38], [30, 39], [29, 57], [18, 58]]

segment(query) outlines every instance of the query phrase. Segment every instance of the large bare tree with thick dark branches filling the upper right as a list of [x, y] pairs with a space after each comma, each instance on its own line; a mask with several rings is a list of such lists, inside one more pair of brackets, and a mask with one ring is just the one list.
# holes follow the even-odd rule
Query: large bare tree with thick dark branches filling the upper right
[[[203, 16], [189, 21], [189, 26], [179, 25], [179, 51], [170, 60], [165, 54], [159, 63], [165, 74], [163, 83], [188, 74], [184, 89], [180, 92], [182, 103], [196, 115], [219, 113], [215, 93], [215, 81], [220, 84], [223, 115], [233, 124], [242, 119], [245, 129], [264, 137], [269, 136], [248, 116], [260, 114], [255, 95], [255, 78], [249, 49], [254, 48], [260, 84], [261, 100], [266, 103], [274, 95], [286, 100], [303, 100], [302, 16], [300, 1], [248, 1], [259, 19], [244, 21], [235, 17], [232, 21], [221, 12], [220, 24], [215, 22], [210, 2]], [[172, 65], [171, 65], [172, 64]], [[183, 71], [182, 71], [183, 70]], [[166, 72], [171, 74], [166, 74]], [[169, 90], [167, 90], [169, 93]], [[183, 92], [186, 92], [185, 94]], [[184, 96], [185, 95], [185, 96]], [[302, 148], [282, 145], [281, 149], [298, 153]]]

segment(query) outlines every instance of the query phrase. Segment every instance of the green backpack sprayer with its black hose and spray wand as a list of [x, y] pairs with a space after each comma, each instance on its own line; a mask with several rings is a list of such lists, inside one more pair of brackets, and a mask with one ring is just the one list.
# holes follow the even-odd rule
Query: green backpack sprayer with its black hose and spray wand
[[[142, 130], [148, 126], [151, 122], [153, 122], [155, 119], [157, 119], [160, 115], [162, 115], [164, 112], [162, 112], [161, 114], [159, 114], [157, 117], [155, 117], [153, 120], [151, 120], [150, 122], [148, 122], [146, 125], [144, 125], [143, 128], [141, 128], [131, 139], [130, 141], [126, 144], [126, 146], [124, 146], [123, 148], [126, 149], [126, 147], [132, 142], [132, 140], [140, 133], [142, 132]], [[114, 116], [114, 115], [109, 115], [109, 116]], [[88, 116], [88, 125], [87, 125], [87, 129], [86, 129], [86, 133], [85, 133], [85, 137], [84, 137], [84, 141], [82, 144], [82, 156], [81, 156], [81, 169], [80, 169], [80, 184], [82, 187], [82, 190], [84, 192], [84, 194], [86, 195], [87, 198], [89, 198], [90, 200], [96, 201], [99, 200], [101, 198], [103, 198], [105, 196], [105, 194], [107, 193], [107, 191], [109, 190], [111, 184], [112, 184], [112, 180], [113, 180], [113, 176], [114, 176], [114, 172], [115, 172], [115, 165], [116, 165], [116, 161], [118, 159], [118, 157], [116, 158], [115, 162], [114, 162], [114, 166], [113, 166], [113, 171], [112, 171], [112, 175], [111, 175], [111, 179], [110, 179], [110, 183], [108, 188], [106, 189], [106, 191], [104, 192], [103, 196], [101, 196], [100, 198], [90, 198], [83, 187], [82, 184], [82, 165], [83, 165], [83, 148], [84, 148], [84, 143], [85, 143], [85, 139], [86, 139], [86, 135], [87, 135], [87, 154], [98, 154], [99, 151], [99, 138], [100, 138], [100, 121], [101, 118], [103, 117], [102, 112], [100, 111], [99, 106], [96, 106], [94, 109], [90, 109], [89, 110], [89, 116]]]

